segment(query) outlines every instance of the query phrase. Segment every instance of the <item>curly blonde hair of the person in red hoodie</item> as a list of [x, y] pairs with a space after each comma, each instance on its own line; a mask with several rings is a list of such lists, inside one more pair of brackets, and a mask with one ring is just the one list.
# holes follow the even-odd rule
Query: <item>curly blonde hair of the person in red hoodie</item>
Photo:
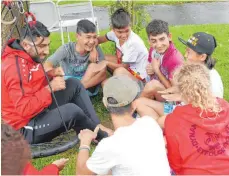
[[201, 63], [186, 62], [174, 73], [182, 97], [202, 111], [219, 112], [220, 107], [211, 92], [209, 69]]

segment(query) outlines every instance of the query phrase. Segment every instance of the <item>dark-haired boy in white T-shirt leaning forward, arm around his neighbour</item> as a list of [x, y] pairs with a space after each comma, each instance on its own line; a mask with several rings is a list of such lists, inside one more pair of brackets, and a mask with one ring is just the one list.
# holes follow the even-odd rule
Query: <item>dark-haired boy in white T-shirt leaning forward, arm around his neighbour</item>
[[116, 55], [106, 55], [105, 62], [114, 75], [126, 74], [135, 80], [143, 81], [146, 76], [148, 50], [143, 40], [131, 30], [130, 15], [118, 9], [111, 17], [112, 31], [98, 37], [98, 42], [113, 41]]

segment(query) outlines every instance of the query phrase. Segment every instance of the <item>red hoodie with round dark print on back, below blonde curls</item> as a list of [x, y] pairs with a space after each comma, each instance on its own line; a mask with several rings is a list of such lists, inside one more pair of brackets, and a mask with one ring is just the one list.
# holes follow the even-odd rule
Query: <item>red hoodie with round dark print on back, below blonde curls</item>
[[165, 120], [168, 159], [176, 174], [229, 174], [229, 103], [202, 113], [192, 105], [178, 106]]

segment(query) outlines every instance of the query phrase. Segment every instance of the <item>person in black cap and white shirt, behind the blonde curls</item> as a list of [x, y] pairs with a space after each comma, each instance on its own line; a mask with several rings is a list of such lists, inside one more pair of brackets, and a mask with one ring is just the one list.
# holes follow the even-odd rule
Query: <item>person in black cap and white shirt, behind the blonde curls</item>
[[[223, 83], [219, 73], [214, 69], [215, 60], [211, 56], [217, 46], [215, 37], [205, 32], [197, 32], [194, 33], [188, 41], [181, 38], [179, 38], [179, 40], [187, 46], [185, 58], [188, 61], [203, 63], [209, 69], [213, 96], [223, 98]], [[167, 101], [182, 101], [180, 92], [175, 86], [164, 91], [158, 91], [158, 93]], [[140, 116], [155, 115], [155, 113], [157, 113], [158, 116], [161, 117], [158, 119], [158, 123], [161, 127], [164, 127], [164, 103], [146, 98], [139, 98], [134, 103]], [[176, 106], [173, 106], [170, 112], [172, 112], [175, 107]]]

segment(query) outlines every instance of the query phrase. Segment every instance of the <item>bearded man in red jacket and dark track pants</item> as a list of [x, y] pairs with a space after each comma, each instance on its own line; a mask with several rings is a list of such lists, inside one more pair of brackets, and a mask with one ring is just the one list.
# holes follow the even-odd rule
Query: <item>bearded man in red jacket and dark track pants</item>
[[[51, 91], [68, 129], [78, 133], [100, 123], [83, 85], [76, 79], [65, 81], [61, 67], [47, 73], [48, 86], [41, 62], [49, 54], [49, 35], [39, 21], [25, 25], [21, 39], [10, 40], [2, 55], [2, 118], [31, 144], [50, 141], [65, 131]], [[106, 136], [99, 131], [98, 139]]]

